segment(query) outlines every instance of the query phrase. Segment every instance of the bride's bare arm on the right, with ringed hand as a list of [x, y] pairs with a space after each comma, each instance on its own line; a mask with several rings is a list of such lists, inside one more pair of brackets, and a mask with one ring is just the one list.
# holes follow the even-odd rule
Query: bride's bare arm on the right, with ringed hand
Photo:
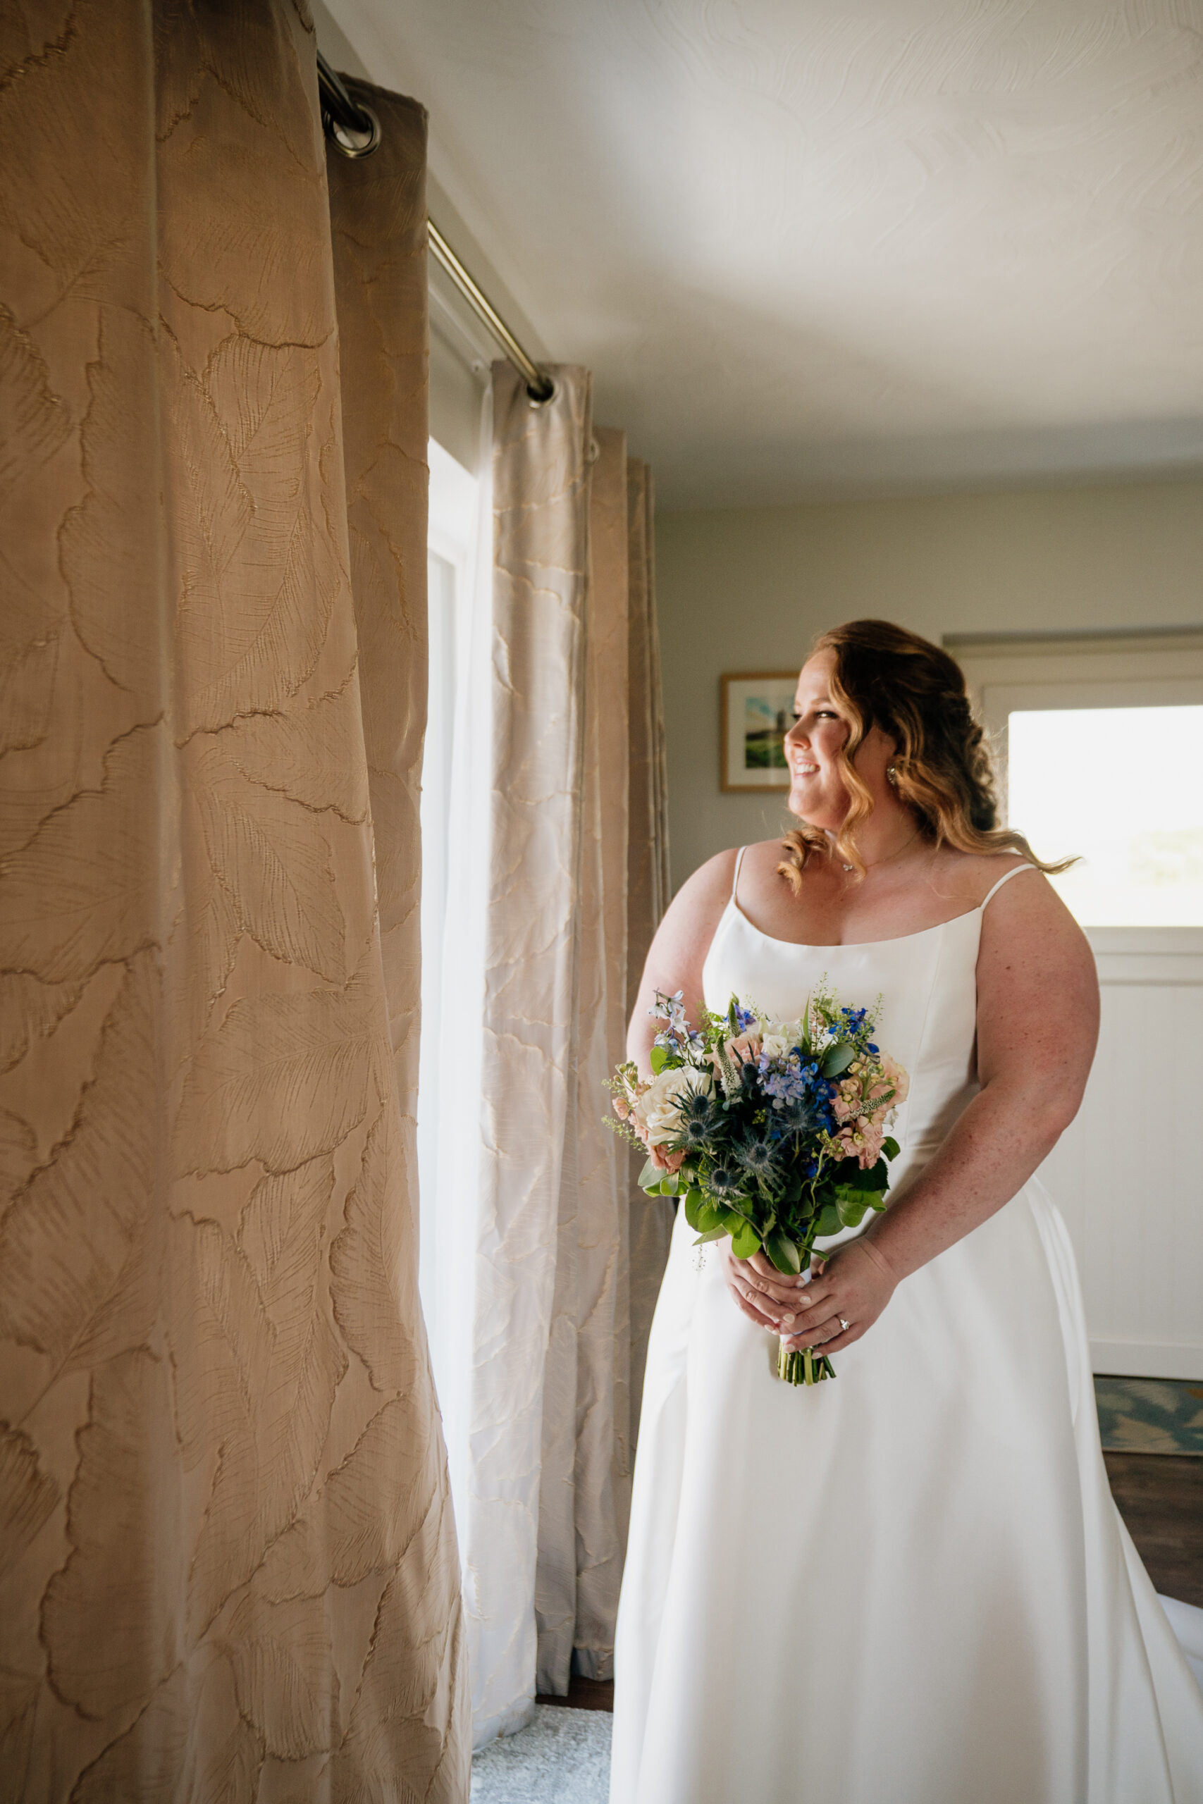
[[900, 1279], [1010, 1201], [1077, 1115], [1097, 1037], [1086, 936], [1042, 877], [1019, 877], [981, 924], [981, 1090], [916, 1182], [801, 1292], [804, 1322], [790, 1344], [839, 1351], [859, 1340]]

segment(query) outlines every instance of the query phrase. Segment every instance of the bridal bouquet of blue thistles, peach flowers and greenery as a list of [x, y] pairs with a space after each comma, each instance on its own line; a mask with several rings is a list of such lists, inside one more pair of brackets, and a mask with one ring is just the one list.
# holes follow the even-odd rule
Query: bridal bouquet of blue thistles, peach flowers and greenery
[[[886, 1207], [887, 1128], [907, 1073], [875, 1039], [869, 1008], [840, 1007], [819, 987], [799, 1021], [767, 1021], [736, 996], [725, 1016], [685, 1021], [682, 990], [647, 1010], [664, 1026], [653, 1079], [631, 1063], [610, 1082], [613, 1111], [647, 1151], [640, 1185], [680, 1196], [698, 1247], [730, 1236], [738, 1259], [761, 1248], [785, 1274], [810, 1270], [815, 1239], [860, 1227]], [[615, 1124], [617, 1126], [617, 1124]], [[788, 1384], [833, 1378], [826, 1355], [788, 1353]]]

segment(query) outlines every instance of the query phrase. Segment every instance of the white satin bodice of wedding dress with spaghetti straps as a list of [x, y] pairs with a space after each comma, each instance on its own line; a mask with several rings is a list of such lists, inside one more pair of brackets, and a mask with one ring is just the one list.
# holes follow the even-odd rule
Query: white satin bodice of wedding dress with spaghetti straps
[[[1015, 866], [1015, 877], [1032, 866]], [[738, 882], [738, 877], [736, 877]], [[851, 1008], [877, 1007], [877, 1039], [911, 1077], [895, 1120], [904, 1167], [923, 1162], [978, 1090], [978, 943], [990, 897], [938, 927], [860, 945], [795, 945], [754, 927], [732, 895], [702, 971], [707, 1008], [723, 1014], [732, 996], [779, 1021], [803, 1014], [819, 981]]]

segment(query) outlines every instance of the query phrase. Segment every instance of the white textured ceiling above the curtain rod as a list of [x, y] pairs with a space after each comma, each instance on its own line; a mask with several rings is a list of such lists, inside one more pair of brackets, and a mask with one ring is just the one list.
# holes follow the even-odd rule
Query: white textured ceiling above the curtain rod
[[326, 5], [662, 503], [1203, 465], [1203, 0]]

